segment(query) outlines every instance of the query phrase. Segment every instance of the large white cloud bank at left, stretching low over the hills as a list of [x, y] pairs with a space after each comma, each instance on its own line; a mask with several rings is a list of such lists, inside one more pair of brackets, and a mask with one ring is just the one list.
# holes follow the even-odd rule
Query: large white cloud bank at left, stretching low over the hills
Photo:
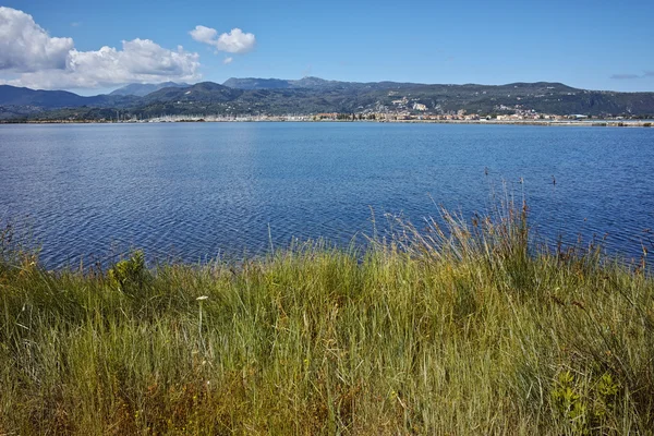
[[199, 56], [149, 39], [122, 41], [122, 50], [77, 51], [71, 38], [50, 38], [31, 15], [0, 8], [0, 71], [20, 73], [10, 85], [93, 88], [130, 82], [194, 81]]

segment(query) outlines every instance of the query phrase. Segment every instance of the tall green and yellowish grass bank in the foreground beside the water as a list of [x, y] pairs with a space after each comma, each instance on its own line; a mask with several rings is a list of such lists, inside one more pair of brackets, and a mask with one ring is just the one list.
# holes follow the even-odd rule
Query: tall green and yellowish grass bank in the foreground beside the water
[[652, 277], [505, 210], [107, 271], [47, 271], [8, 231], [0, 434], [651, 434]]

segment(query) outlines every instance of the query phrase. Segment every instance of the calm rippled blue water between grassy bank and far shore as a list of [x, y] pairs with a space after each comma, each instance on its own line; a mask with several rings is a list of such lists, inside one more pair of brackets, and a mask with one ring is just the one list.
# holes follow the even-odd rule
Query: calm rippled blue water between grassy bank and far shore
[[50, 267], [130, 247], [196, 262], [261, 254], [269, 237], [347, 244], [372, 233], [371, 210], [377, 227], [384, 214], [420, 227], [440, 204], [469, 217], [505, 180], [542, 238], [608, 233], [608, 251], [639, 257], [652, 244], [652, 162], [654, 129], [2, 125], [0, 220], [27, 223]]

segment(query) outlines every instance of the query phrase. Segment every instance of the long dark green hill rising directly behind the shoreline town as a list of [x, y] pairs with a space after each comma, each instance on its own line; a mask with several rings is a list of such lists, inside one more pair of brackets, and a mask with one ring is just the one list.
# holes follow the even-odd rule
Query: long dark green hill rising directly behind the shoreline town
[[230, 78], [223, 85], [205, 82], [183, 89], [160, 89], [144, 97], [134, 111], [141, 117], [161, 113], [307, 114], [411, 111], [414, 105], [424, 105], [428, 113], [460, 109], [506, 113], [533, 109], [556, 114], [654, 114], [654, 93], [585, 90], [548, 82], [489, 86], [251, 77]]

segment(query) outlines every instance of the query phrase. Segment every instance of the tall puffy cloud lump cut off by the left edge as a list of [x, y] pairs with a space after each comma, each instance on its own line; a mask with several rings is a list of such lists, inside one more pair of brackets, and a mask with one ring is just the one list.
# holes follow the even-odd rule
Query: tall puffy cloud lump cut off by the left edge
[[0, 70], [63, 69], [72, 38], [51, 38], [32, 15], [0, 7]]

